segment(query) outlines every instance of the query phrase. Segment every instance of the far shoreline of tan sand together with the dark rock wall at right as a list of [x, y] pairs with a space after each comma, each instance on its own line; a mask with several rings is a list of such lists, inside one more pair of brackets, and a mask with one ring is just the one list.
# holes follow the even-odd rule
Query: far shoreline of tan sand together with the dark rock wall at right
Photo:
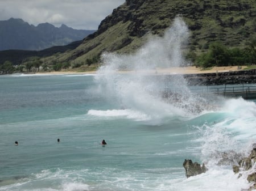
[[[155, 68], [148, 70], [130, 70], [130, 71], [107, 71], [110, 75], [131, 74], [131, 75], [149, 75], [161, 76], [168, 75], [175, 77], [183, 75], [187, 84], [196, 85], [219, 85], [219, 84], [256, 84], [256, 68], [247, 66], [219, 66], [211, 69], [202, 70], [196, 66]], [[36, 75], [104, 75], [98, 71], [50, 71], [36, 73], [14, 73], [22, 74], [28, 77]], [[8, 75], [8, 74], [3, 74]]]

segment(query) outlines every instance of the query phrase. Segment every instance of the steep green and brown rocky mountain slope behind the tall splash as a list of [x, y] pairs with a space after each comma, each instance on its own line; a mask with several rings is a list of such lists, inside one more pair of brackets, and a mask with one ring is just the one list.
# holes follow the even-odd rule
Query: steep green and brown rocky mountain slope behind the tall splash
[[126, 0], [80, 46], [48, 62], [84, 62], [105, 51], [134, 52], [148, 35], [162, 36], [177, 15], [188, 25], [189, 48], [197, 53], [208, 49], [212, 41], [236, 47], [256, 38], [255, 0]]

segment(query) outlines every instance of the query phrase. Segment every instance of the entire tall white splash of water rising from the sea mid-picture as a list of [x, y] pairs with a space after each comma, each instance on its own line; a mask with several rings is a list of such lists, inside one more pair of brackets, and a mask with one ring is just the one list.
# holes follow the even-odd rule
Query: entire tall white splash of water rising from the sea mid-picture
[[[188, 111], [195, 111], [196, 108], [191, 107], [195, 106], [195, 96], [191, 95], [181, 75], [156, 75], [157, 68], [187, 64], [182, 52], [188, 42], [188, 36], [187, 25], [177, 17], [163, 37], [152, 37], [137, 53], [103, 54], [104, 64], [98, 70], [100, 75], [96, 77], [101, 92], [129, 109], [141, 111], [154, 118], [184, 116]], [[122, 70], [133, 72], [117, 73]], [[149, 71], [151, 74], [148, 74]], [[164, 90], [167, 88], [168, 91], [169, 88], [172, 89], [172, 94], [167, 92], [168, 99], [164, 100]]]

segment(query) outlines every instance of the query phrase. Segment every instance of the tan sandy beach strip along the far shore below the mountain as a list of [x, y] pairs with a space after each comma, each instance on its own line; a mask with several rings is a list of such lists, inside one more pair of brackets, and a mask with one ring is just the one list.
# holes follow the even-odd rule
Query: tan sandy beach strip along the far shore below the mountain
[[[212, 69], [202, 70], [195, 66], [186, 67], [168, 67], [168, 68], [156, 68], [155, 70], [137, 70], [137, 71], [117, 71], [117, 73], [143, 73], [143, 74], [203, 74], [203, 73], [222, 73], [228, 71], [243, 70], [246, 66], [221, 66], [212, 67]], [[38, 74], [96, 74], [96, 71], [51, 71], [48, 73]]]

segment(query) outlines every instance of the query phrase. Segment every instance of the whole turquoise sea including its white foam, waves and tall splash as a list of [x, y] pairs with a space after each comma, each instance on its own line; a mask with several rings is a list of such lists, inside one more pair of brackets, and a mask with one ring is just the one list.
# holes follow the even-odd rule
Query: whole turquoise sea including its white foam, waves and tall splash
[[[182, 76], [140, 73], [189, 64], [188, 36], [176, 18], [137, 53], [104, 53], [96, 75], [0, 76], [0, 190], [249, 188], [249, 172], [238, 178], [232, 165], [255, 143], [256, 100], [199, 95]], [[184, 159], [208, 171], [187, 179]]]

